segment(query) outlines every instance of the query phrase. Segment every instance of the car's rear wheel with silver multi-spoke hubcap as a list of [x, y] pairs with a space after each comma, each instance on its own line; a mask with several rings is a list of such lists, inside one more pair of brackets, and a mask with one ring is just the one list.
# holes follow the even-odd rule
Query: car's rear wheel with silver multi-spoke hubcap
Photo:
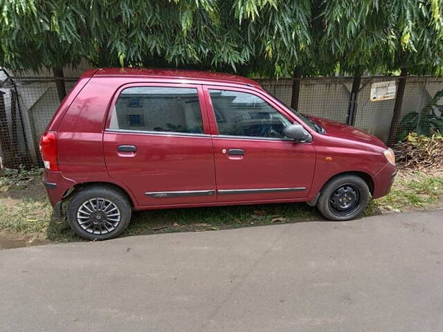
[[107, 240], [127, 228], [131, 204], [125, 194], [112, 187], [85, 187], [69, 202], [66, 216], [72, 230], [80, 237]]

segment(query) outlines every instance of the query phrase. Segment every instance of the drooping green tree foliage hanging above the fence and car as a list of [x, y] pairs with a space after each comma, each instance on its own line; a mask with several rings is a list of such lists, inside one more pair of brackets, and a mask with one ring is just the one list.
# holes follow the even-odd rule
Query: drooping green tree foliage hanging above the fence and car
[[443, 0], [0, 0], [0, 65], [441, 72]]

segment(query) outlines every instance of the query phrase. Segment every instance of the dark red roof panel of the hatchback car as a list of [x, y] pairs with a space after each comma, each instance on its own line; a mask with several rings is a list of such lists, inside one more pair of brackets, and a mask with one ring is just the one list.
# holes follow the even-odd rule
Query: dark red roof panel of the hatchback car
[[95, 71], [93, 76], [144, 76], [166, 79], [185, 79], [260, 86], [260, 84], [258, 84], [254, 80], [238, 75], [215, 73], [212, 71], [191, 71], [187, 69], [100, 68]]

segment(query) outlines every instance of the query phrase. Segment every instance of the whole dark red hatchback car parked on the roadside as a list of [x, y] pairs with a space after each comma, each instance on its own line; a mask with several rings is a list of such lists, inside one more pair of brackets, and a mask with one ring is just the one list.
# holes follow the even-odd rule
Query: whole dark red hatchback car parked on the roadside
[[40, 149], [55, 212], [87, 239], [116, 237], [132, 210], [307, 202], [349, 220], [396, 172], [378, 138], [201, 71], [87, 71]]

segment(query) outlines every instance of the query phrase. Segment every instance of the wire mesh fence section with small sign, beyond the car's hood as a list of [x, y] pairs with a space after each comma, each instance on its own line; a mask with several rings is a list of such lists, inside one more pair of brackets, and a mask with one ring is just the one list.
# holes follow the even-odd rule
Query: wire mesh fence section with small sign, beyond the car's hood
[[[356, 94], [354, 114], [350, 114], [352, 77], [319, 77], [300, 79], [298, 111], [327, 118], [379, 137], [388, 145], [404, 138], [410, 131], [429, 135], [443, 129], [443, 77], [408, 77], [404, 89], [399, 129], [390, 138], [394, 116], [395, 93], [399, 77], [362, 77]], [[264, 89], [291, 104], [294, 79], [259, 80]], [[386, 89], [388, 91], [386, 91]], [[433, 100], [433, 98], [436, 98]], [[432, 107], [428, 105], [431, 102]], [[350, 119], [350, 115], [352, 119]], [[440, 127], [438, 121], [442, 121]], [[443, 131], [442, 131], [443, 133]]]

